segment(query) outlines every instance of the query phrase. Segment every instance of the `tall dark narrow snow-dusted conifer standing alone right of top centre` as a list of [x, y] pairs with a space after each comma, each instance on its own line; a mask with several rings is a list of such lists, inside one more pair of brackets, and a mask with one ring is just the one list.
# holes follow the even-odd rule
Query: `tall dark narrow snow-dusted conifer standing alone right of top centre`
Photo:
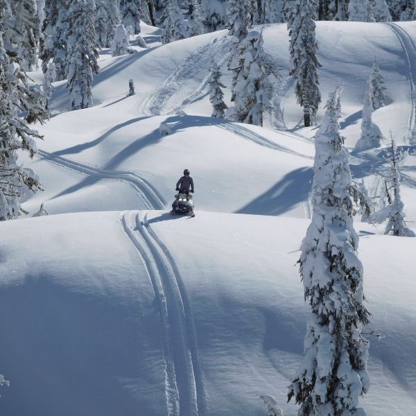
[[289, 74], [295, 78], [297, 103], [303, 107], [305, 127], [313, 123], [321, 101], [318, 77], [321, 64], [317, 56], [315, 19], [315, 0], [297, 0], [296, 8], [291, 9], [288, 20], [291, 54]]

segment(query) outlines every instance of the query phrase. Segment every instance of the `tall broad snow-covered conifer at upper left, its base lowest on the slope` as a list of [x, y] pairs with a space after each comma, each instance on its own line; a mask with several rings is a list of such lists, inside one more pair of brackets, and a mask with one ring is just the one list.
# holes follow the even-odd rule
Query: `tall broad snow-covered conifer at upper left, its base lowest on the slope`
[[72, 110], [92, 106], [92, 80], [98, 74], [94, 0], [74, 0], [69, 8], [67, 88]]

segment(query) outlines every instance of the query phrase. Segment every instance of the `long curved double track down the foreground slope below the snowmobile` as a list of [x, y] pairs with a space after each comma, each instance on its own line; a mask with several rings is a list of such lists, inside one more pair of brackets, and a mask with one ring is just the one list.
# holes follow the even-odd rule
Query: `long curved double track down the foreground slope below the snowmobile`
[[125, 233], [139, 251], [153, 284], [164, 337], [166, 401], [169, 416], [205, 415], [205, 391], [198, 361], [189, 298], [166, 246], [147, 214], [123, 214]]

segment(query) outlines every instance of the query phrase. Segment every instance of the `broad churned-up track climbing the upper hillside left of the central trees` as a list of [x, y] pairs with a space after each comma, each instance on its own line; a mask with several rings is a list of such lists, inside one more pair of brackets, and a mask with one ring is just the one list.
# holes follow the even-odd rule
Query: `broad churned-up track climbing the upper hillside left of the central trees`
[[[189, 78], [195, 78], [200, 71], [205, 71], [211, 60], [217, 58], [218, 55], [224, 53], [223, 48], [227, 44], [225, 35], [214, 38], [209, 44], [200, 46], [196, 51], [193, 51], [187, 58], [184, 58], [182, 64], [177, 66], [164, 83], [157, 89], [157, 91], [146, 98], [141, 105], [141, 113], [146, 116], [159, 116], [167, 114], [169, 111], [165, 111], [166, 103], [169, 98], [177, 92], [182, 85], [189, 80]], [[198, 64], [196, 64], [198, 62]], [[205, 81], [202, 82], [202, 87], [198, 87], [196, 92], [192, 94], [199, 96], [200, 90], [205, 88]], [[187, 100], [184, 101], [187, 103]], [[175, 107], [178, 109], [179, 107]]]

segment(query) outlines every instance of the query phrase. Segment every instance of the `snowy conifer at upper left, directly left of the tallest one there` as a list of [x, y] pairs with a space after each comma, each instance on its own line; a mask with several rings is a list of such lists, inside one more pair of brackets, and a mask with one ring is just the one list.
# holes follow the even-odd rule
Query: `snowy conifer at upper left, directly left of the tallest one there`
[[49, 0], [45, 8], [44, 49], [40, 55], [42, 70], [46, 72], [49, 62], [53, 60], [56, 70], [56, 80], [67, 78], [67, 19], [69, 2], [64, 0]]

